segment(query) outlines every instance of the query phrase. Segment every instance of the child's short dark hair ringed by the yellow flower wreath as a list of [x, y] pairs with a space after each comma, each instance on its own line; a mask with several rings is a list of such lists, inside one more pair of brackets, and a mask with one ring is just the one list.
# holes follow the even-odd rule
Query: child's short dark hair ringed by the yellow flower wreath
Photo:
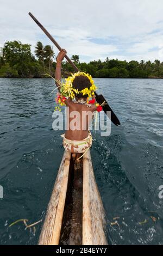
[[[91, 87], [91, 83], [89, 78], [87, 78], [86, 76], [80, 75], [80, 76], [76, 76], [76, 78], [74, 78], [73, 82], [72, 82], [73, 88], [78, 89], [79, 91], [85, 89], [86, 87], [89, 89]], [[83, 95], [82, 93], [76, 94], [76, 98], [87, 98], [87, 94]]]

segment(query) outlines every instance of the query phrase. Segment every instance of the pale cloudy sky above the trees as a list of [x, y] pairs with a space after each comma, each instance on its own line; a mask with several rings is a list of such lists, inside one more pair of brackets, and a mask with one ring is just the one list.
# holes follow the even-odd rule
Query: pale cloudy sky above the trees
[[162, 0], [0, 0], [0, 46], [20, 40], [34, 52], [37, 41], [53, 45], [29, 11], [80, 62], [163, 61]]

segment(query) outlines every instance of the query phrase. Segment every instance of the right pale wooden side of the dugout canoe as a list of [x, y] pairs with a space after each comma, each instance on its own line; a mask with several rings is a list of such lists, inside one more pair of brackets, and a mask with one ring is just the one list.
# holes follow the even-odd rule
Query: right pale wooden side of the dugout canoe
[[105, 225], [105, 212], [89, 150], [83, 157], [83, 245], [108, 245]]

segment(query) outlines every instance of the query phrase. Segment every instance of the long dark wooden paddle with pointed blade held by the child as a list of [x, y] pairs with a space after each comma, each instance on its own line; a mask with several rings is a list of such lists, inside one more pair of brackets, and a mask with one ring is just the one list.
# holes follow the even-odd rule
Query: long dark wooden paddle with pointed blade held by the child
[[[49, 34], [49, 32], [45, 29], [45, 27], [43, 27], [41, 25], [41, 23], [33, 16], [32, 13], [29, 13], [30, 17], [32, 17], [32, 19], [36, 22], [36, 24], [42, 29], [42, 31], [48, 36], [48, 38], [53, 42], [53, 44], [58, 48], [58, 50], [61, 50], [61, 47], [59, 46], [59, 44], [54, 40], [54, 38], [52, 37], [51, 34]], [[65, 58], [67, 59], [67, 61], [73, 66], [74, 70], [76, 70], [77, 72], [79, 71], [79, 69], [77, 68], [77, 66], [71, 61], [70, 58], [68, 58], [68, 56], [66, 55]], [[111, 107], [109, 106], [108, 102], [105, 100], [104, 96], [98, 95], [95, 92], [95, 96], [96, 96], [96, 101], [101, 105], [103, 102], [105, 102], [105, 105], [103, 105], [103, 111], [106, 113], [106, 115], [108, 115], [108, 117], [111, 119], [112, 123], [114, 123], [115, 125], [120, 125], [120, 121], [118, 120], [118, 118], [116, 117], [116, 114], [112, 111]], [[110, 113], [111, 112], [111, 115]]]

